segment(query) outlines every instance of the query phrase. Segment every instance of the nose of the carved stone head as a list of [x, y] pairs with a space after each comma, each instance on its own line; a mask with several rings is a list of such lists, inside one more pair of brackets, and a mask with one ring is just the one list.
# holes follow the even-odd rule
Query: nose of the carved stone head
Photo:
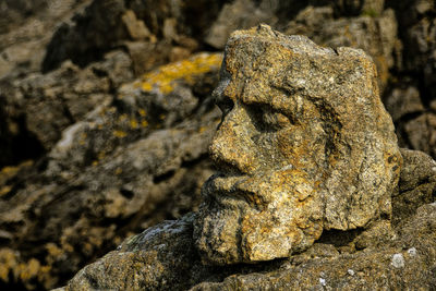
[[251, 125], [246, 112], [238, 106], [223, 117], [209, 147], [218, 166], [243, 173], [256, 171], [259, 165], [256, 145], [251, 138]]

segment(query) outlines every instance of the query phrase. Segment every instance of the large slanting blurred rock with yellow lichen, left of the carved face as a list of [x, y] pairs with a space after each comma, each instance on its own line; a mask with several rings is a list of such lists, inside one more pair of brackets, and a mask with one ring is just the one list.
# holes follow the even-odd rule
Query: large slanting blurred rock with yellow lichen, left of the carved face
[[[126, 54], [109, 60], [117, 56]], [[71, 77], [62, 92], [77, 94], [84, 111], [98, 82], [120, 88], [90, 112], [74, 111], [77, 120], [43, 159], [0, 171], [0, 262], [13, 263], [0, 278], [53, 288], [132, 233], [195, 210], [213, 173], [207, 145], [220, 114], [209, 93], [221, 61], [221, 53], [199, 53], [122, 85], [121, 76], [109, 82], [122, 62], [108, 60], [38, 75], [46, 90]], [[38, 268], [26, 272], [29, 264]]]

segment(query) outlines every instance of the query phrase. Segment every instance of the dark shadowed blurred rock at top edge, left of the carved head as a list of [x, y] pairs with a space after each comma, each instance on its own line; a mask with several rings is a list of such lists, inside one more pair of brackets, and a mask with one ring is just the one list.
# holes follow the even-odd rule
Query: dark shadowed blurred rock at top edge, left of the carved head
[[[47, 47], [43, 71], [55, 70], [68, 59], [85, 66], [106, 52], [125, 46], [132, 51], [135, 71], [144, 73], [174, 60], [171, 58], [173, 45], [190, 53], [195, 51], [221, 5], [222, 1], [94, 0], [83, 13], [57, 29]], [[142, 65], [146, 68], [141, 69]]]

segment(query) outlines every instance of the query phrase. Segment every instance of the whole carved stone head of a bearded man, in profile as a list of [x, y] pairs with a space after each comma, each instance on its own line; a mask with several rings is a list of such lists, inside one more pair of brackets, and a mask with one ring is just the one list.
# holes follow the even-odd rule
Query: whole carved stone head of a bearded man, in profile
[[402, 159], [368, 56], [261, 25], [232, 34], [220, 77], [220, 172], [194, 223], [204, 263], [286, 257], [389, 219]]

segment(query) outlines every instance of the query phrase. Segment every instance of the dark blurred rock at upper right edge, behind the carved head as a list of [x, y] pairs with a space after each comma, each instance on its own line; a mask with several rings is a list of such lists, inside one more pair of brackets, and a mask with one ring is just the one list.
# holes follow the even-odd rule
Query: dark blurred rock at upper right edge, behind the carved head
[[[401, 73], [392, 77], [393, 89], [386, 97], [401, 100], [404, 106], [424, 110], [407, 114], [396, 122], [400, 145], [412, 149], [423, 150], [433, 158], [436, 157], [436, 5], [432, 0], [387, 1], [395, 9], [399, 25], [399, 37], [402, 40], [403, 52]], [[410, 99], [407, 86], [417, 90]], [[402, 92], [396, 92], [400, 88]], [[393, 93], [392, 93], [393, 92]], [[396, 96], [398, 93], [399, 96]], [[402, 107], [404, 107], [402, 106]], [[393, 108], [390, 112], [401, 110]]]

